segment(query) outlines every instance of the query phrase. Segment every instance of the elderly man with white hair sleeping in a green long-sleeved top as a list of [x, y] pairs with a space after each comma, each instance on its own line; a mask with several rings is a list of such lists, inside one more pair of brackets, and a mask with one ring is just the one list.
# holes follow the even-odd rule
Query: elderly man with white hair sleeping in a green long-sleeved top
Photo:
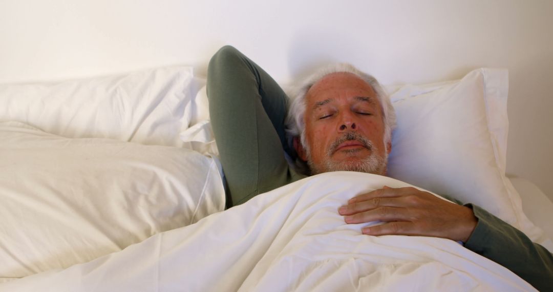
[[[207, 95], [226, 176], [227, 207], [310, 174], [386, 174], [394, 109], [378, 82], [352, 66], [327, 67], [301, 87], [288, 115], [291, 143], [285, 133], [288, 97], [231, 46], [210, 61]], [[292, 160], [300, 167], [291, 167]], [[347, 223], [385, 222], [364, 228], [364, 234], [460, 241], [539, 290], [553, 286], [553, 255], [478, 206], [452, 204], [410, 187], [384, 187], [353, 197], [337, 211]]]

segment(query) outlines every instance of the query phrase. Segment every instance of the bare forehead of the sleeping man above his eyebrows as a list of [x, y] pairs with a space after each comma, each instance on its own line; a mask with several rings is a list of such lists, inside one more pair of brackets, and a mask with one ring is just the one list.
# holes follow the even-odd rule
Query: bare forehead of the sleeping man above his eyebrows
[[307, 91], [307, 103], [312, 104], [329, 98], [371, 97], [376, 100], [376, 93], [371, 85], [348, 72], [328, 74]]

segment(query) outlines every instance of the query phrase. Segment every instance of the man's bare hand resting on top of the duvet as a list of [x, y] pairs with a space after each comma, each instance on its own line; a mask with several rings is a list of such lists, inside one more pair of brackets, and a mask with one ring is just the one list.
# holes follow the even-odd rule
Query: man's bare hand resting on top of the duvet
[[471, 208], [444, 201], [414, 187], [384, 186], [353, 197], [338, 212], [346, 215], [346, 223], [386, 222], [363, 228], [363, 234], [375, 236], [432, 236], [466, 242], [477, 223]]

